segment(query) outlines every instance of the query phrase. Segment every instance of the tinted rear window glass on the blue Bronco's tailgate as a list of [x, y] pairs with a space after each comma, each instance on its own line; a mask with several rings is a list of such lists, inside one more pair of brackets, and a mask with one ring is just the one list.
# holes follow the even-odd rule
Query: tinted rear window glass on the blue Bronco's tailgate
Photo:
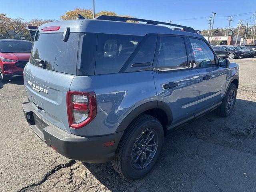
[[30, 63], [39, 66], [38, 59], [45, 60], [46, 69], [75, 75], [79, 33], [70, 33], [66, 42], [62, 36], [63, 33], [39, 34], [34, 41]]

